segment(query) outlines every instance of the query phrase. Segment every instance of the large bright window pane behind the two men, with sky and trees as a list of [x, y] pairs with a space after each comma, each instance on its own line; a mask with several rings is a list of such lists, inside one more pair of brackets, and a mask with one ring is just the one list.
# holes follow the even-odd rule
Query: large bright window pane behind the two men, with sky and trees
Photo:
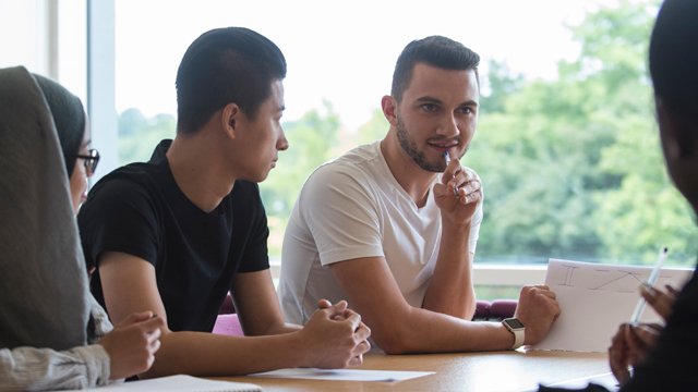
[[290, 149], [262, 186], [273, 257], [300, 186], [322, 162], [382, 138], [380, 99], [404, 46], [444, 35], [480, 53], [481, 113], [464, 163], [482, 177], [477, 262], [566, 258], [693, 266], [696, 229], [666, 176], [646, 53], [658, 1], [116, 2], [121, 163], [173, 137], [186, 47], [253, 28], [289, 64]]

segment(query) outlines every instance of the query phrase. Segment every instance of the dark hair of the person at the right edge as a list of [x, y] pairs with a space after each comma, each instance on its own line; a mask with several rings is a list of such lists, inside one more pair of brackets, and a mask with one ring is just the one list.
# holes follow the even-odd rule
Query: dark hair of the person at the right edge
[[698, 115], [698, 1], [664, 1], [650, 38], [649, 69], [667, 109]]

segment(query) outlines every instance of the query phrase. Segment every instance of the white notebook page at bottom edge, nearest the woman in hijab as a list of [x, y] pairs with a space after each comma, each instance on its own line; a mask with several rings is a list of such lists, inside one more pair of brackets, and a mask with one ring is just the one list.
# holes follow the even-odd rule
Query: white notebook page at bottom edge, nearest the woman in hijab
[[[148, 380], [139, 380], [122, 382], [106, 387], [99, 387], [94, 389], [81, 390], [85, 391], [99, 391], [99, 392], [262, 392], [262, 387], [248, 382], [232, 382], [232, 381], [215, 381], [207, 380], [198, 377], [177, 375], [154, 378]], [[62, 391], [71, 392], [71, 391]]]

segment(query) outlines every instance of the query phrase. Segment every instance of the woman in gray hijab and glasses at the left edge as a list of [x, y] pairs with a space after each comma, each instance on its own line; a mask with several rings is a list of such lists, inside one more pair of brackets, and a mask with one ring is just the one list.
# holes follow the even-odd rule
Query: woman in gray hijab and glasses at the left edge
[[0, 70], [0, 391], [104, 385], [147, 370], [159, 347], [161, 318], [112, 329], [87, 291], [74, 215], [99, 156], [85, 125], [58, 83]]

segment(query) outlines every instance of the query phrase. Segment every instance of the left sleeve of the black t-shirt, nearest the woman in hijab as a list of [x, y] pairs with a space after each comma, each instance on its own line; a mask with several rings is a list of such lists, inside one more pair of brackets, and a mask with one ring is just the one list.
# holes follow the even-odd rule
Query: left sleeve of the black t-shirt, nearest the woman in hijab
[[87, 265], [98, 267], [99, 256], [105, 252], [127, 253], [155, 265], [156, 213], [142, 185], [103, 179], [77, 216]]

